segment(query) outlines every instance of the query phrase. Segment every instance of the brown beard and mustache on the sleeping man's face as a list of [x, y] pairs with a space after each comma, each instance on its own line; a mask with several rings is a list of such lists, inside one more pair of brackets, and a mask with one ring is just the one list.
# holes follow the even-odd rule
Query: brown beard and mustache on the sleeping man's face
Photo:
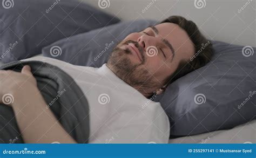
[[[129, 58], [129, 54], [132, 54], [132, 52], [129, 49], [120, 49], [119, 45], [122, 46], [129, 43], [133, 43], [138, 48], [142, 56], [141, 63], [132, 63]], [[153, 74], [146, 69], [144, 66], [145, 63], [146, 58], [143, 48], [140, 47], [137, 42], [127, 40], [124, 43], [119, 43], [113, 49], [111, 56], [107, 61], [107, 67], [109, 67], [120, 79], [125, 81], [125, 83], [129, 84], [139, 92], [146, 95], [152, 95], [153, 91], [150, 92], [150, 89], [158, 87], [159, 84], [154, 80]]]

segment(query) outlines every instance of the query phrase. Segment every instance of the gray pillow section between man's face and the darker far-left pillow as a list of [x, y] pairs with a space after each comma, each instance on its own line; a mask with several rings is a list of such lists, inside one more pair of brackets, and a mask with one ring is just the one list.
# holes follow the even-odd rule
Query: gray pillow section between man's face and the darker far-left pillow
[[43, 48], [45, 57], [75, 65], [100, 67], [109, 59], [113, 48], [132, 32], [156, 24], [154, 20], [120, 22], [104, 28], [64, 38]]

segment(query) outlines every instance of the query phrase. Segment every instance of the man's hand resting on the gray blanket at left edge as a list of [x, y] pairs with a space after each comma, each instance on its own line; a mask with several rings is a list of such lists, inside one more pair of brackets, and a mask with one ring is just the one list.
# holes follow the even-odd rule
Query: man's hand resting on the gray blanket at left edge
[[21, 97], [19, 95], [27, 93], [30, 87], [37, 87], [37, 83], [29, 65], [21, 72], [0, 70], [0, 103], [11, 105], [16, 96]]

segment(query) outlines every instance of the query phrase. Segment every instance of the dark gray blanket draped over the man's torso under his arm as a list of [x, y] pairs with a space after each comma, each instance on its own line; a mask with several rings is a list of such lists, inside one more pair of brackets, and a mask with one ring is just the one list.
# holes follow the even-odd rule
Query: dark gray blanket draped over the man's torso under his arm
[[[24, 65], [31, 67], [37, 87], [47, 104], [45, 108], [51, 109], [73, 139], [78, 143], [87, 143], [89, 106], [75, 81], [60, 68], [41, 61], [14, 61], [0, 69], [20, 72]], [[24, 143], [14, 111], [4, 104], [0, 104], [0, 143]]]

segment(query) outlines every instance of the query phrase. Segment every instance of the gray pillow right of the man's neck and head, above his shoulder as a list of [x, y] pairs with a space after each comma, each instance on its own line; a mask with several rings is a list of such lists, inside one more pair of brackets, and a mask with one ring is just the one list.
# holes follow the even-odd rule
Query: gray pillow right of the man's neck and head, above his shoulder
[[255, 48], [212, 42], [206, 66], [169, 85], [160, 101], [171, 136], [227, 129], [256, 119]]

